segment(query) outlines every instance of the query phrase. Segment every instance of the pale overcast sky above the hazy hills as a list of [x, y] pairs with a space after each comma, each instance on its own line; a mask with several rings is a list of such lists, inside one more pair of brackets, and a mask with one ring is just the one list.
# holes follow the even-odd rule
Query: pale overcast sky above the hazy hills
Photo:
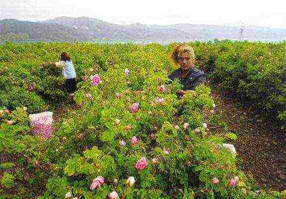
[[[286, 0], [0, 0], [1, 19], [88, 16], [116, 24], [245, 24], [286, 28]], [[240, 23], [239, 23], [240, 22]], [[242, 22], [242, 23], [241, 23]]]

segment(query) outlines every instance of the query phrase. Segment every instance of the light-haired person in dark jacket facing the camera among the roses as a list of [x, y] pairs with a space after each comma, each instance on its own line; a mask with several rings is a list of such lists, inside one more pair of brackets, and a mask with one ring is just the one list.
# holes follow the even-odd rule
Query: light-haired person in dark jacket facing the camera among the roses
[[190, 90], [194, 90], [197, 85], [206, 82], [205, 73], [194, 66], [195, 56], [191, 46], [184, 43], [178, 45], [172, 53], [172, 59], [180, 65], [180, 68], [173, 71], [168, 77], [172, 81], [178, 78], [183, 85], [183, 89], [179, 92], [180, 97], [186, 95]]

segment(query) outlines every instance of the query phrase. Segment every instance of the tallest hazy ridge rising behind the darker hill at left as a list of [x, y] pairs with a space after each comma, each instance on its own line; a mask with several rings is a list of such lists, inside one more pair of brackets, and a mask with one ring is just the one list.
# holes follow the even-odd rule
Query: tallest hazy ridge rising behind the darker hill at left
[[163, 38], [166, 40], [172, 39], [193, 39], [190, 33], [171, 29], [171, 28], [152, 28], [147, 26], [130, 26], [130, 25], [116, 25], [111, 24], [106, 21], [101, 21], [89, 17], [59, 17], [47, 21], [42, 21], [42, 23], [56, 23], [75, 29], [81, 30], [83, 32], [88, 32], [92, 35], [91, 39], [107, 38], [107, 39], [117, 39], [117, 40], [152, 40], [160, 41]]

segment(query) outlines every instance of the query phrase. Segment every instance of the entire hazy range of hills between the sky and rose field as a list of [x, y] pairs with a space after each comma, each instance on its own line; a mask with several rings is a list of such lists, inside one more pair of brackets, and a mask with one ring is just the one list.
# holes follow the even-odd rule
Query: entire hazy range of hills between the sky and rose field
[[[223, 25], [116, 25], [89, 17], [58, 17], [40, 22], [3, 19], [0, 21], [1, 42], [13, 41], [95, 41], [119, 40], [174, 42], [240, 38], [240, 28]], [[286, 29], [246, 26], [243, 40], [286, 40]]]

